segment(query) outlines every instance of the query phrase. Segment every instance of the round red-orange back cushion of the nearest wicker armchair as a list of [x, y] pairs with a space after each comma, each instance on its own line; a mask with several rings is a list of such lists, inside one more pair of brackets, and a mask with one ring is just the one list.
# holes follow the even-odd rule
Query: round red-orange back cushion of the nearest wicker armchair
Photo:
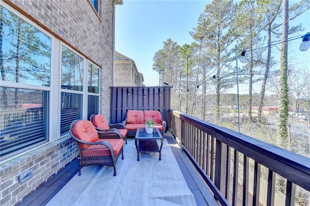
[[[76, 135], [80, 140], [84, 142], [95, 142], [99, 139], [98, 133], [95, 127], [93, 126], [93, 123], [88, 120], [83, 119], [78, 120], [72, 128], [72, 132], [74, 133], [74, 135]], [[80, 146], [83, 149], [89, 147], [88, 145], [85, 144], [80, 144]]]

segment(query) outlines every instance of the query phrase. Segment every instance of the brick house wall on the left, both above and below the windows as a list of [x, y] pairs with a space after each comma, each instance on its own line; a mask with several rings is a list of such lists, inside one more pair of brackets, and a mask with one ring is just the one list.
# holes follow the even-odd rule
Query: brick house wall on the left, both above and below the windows
[[[110, 119], [112, 86], [113, 1], [100, 0], [96, 14], [88, 0], [4, 0], [57, 39], [102, 68], [99, 112]], [[78, 155], [66, 136], [0, 164], [0, 205], [16, 205]], [[18, 176], [33, 169], [34, 176], [21, 183]]]

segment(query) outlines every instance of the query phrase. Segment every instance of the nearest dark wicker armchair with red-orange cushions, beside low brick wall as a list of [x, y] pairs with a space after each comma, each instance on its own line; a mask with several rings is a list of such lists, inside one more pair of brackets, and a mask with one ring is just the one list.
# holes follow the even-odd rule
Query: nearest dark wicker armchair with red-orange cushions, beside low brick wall
[[111, 139], [109, 132], [96, 131], [91, 121], [81, 119], [71, 123], [69, 133], [78, 147], [78, 176], [81, 175], [82, 167], [90, 165], [113, 166], [113, 175], [116, 176], [115, 165], [121, 153], [124, 160], [124, 141], [120, 136], [118, 139]]

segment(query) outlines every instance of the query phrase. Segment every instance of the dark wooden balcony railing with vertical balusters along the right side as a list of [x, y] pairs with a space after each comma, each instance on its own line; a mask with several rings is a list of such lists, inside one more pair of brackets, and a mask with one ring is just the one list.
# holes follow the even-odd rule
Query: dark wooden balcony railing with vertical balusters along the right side
[[310, 191], [307, 157], [177, 111], [170, 130], [221, 205], [293, 206], [296, 185]]

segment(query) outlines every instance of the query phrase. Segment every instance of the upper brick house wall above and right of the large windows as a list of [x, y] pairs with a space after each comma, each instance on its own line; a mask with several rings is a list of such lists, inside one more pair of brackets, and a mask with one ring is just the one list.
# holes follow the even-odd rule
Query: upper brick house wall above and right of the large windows
[[4, 0], [69, 44], [102, 70], [101, 114], [109, 121], [112, 86], [113, 0], [100, 0], [96, 14], [88, 0]]

